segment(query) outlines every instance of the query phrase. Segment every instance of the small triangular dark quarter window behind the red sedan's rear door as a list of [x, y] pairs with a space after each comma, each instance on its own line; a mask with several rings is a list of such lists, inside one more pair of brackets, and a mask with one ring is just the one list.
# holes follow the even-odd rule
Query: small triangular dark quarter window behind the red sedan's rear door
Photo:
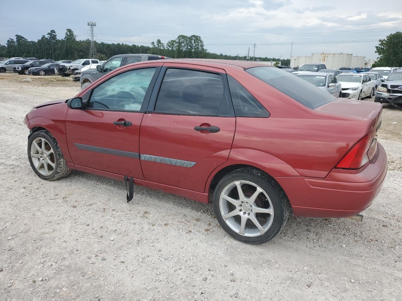
[[267, 110], [236, 79], [228, 75], [228, 82], [236, 116], [269, 117]]

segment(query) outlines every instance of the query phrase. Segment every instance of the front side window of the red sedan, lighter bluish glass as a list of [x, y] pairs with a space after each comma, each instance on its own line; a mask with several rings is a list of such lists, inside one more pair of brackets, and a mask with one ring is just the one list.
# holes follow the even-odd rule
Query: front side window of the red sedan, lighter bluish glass
[[88, 108], [139, 111], [156, 68], [135, 69], [108, 79], [92, 92]]

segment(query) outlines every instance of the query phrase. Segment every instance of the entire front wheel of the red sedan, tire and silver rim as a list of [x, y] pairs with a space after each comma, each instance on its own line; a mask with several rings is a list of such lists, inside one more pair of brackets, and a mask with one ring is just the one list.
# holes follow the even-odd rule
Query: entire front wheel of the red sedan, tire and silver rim
[[28, 159], [33, 171], [47, 181], [61, 179], [71, 172], [59, 144], [47, 130], [39, 130], [29, 137]]

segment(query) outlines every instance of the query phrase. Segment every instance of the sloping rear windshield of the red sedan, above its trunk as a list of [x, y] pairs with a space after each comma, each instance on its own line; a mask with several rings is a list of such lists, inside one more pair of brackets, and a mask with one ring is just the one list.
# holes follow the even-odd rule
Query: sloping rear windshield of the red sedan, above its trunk
[[328, 92], [279, 68], [252, 67], [246, 71], [310, 109], [318, 108], [336, 100]]

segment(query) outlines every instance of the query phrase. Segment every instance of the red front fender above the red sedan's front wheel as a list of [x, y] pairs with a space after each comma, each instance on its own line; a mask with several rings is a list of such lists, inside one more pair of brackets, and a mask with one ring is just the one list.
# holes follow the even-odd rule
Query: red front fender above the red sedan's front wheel
[[[28, 114], [29, 115], [29, 114]], [[60, 149], [64, 155], [64, 159], [66, 159], [67, 163], [72, 163], [72, 159], [70, 157], [70, 152], [67, 146], [66, 140], [66, 127], [65, 124], [57, 124], [53, 120], [46, 118], [44, 116], [35, 116], [29, 118], [29, 116], [25, 116], [24, 123], [27, 125], [29, 130], [32, 130], [36, 127], [41, 127], [47, 130], [53, 137], [57, 140], [57, 144], [59, 144]], [[64, 121], [64, 120], [63, 120]]]

